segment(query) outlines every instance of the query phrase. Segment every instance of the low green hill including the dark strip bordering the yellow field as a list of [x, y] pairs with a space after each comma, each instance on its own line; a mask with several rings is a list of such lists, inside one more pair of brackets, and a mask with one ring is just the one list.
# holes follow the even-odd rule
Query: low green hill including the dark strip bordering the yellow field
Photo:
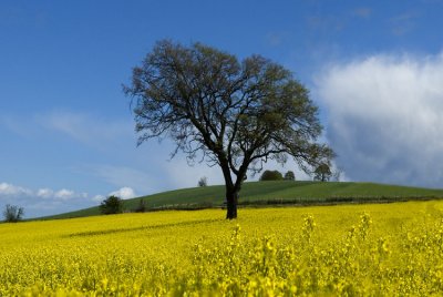
[[[167, 191], [124, 201], [125, 212], [198, 211], [224, 208], [225, 187], [212, 185]], [[336, 204], [392, 203], [443, 198], [443, 188], [422, 188], [358, 182], [247, 182], [238, 207], [321, 206]], [[99, 206], [27, 221], [101, 215]]]

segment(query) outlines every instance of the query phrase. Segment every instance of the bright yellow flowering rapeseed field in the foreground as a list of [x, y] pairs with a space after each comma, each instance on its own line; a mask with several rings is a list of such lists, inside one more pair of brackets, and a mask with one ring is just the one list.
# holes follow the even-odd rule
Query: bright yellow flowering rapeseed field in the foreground
[[0, 224], [0, 296], [441, 296], [443, 202]]

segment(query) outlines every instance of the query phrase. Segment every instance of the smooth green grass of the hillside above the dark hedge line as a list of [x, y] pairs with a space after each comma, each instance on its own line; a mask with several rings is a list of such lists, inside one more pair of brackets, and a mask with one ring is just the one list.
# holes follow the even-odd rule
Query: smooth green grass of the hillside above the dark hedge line
[[[144, 198], [148, 207], [167, 205], [213, 204], [222, 205], [225, 196], [223, 185], [169, 191], [125, 201], [125, 207], [133, 209]], [[251, 182], [245, 183], [240, 192], [240, 203], [264, 203], [267, 201], [293, 201], [299, 203], [321, 203], [326, 201], [377, 201], [379, 198], [443, 197], [443, 190], [405, 187], [373, 183], [320, 183], [320, 182]], [[51, 216], [66, 218], [100, 214], [99, 207]]]

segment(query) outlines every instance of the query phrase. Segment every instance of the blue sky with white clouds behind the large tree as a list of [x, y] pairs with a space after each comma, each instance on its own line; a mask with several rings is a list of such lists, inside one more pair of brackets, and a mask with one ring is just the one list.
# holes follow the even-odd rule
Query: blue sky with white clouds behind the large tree
[[[344, 181], [442, 188], [442, 14], [440, 0], [2, 0], [0, 208], [38, 217], [223, 184], [217, 167], [171, 160], [167, 140], [136, 146], [122, 85], [162, 39], [289, 69]], [[265, 168], [309, 178], [293, 162]]]

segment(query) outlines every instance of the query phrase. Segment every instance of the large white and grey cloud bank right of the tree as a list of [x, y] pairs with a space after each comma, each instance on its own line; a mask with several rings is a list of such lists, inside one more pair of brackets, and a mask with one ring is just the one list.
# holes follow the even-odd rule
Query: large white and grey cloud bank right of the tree
[[443, 187], [443, 53], [336, 63], [316, 90], [349, 178]]

